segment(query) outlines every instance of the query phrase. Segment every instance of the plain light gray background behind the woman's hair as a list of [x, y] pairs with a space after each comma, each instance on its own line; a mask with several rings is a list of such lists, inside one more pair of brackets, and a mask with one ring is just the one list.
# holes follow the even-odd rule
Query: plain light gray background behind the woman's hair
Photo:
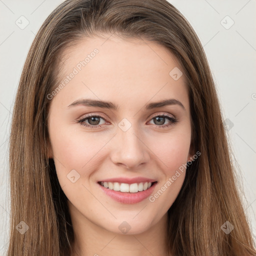
[[[255, 239], [256, 0], [169, 1], [200, 38], [216, 82], [224, 119], [233, 123], [228, 133], [240, 165], [244, 205]], [[44, 19], [61, 2], [0, 0], [0, 255], [6, 249], [9, 231], [7, 149], [14, 96], [32, 40]], [[29, 21], [23, 29], [15, 23], [21, 23], [22, 19], [25, 24], [25, 19], [20, 18], [22, 15]], [[232, 20], [234, 24], [230, 26]]]

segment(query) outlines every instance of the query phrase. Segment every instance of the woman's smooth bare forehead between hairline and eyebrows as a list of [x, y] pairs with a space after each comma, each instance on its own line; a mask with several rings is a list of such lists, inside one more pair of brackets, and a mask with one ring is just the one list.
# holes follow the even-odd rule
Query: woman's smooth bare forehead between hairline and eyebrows
[[[56, 95], [62, 101], [86, 96], [121, 105], [173, 97], [188, 104], [182, 67], [169, 49], [155, 42], [85, 37], [63, 52], [60, 65], [59, 83], [75, 73]], [[181, 76], [174, 79], [173, 73]]]

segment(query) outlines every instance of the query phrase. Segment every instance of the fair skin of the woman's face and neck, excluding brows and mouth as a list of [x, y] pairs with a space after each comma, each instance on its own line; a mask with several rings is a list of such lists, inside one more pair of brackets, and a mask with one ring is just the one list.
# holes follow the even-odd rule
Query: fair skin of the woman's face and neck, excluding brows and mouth
[[[107, 35], [106, 38], [108, 38]], [[167, 255], [167, 210], [182, 186], [185, 171], [153, 202], [116, 202], [97, 182], [112, 177], [143, 176], [157, 180], [156, 193], [190, 153], [191, 125], [185, 77], [174, 80], [169, 72], [181, 66], [165, 47], [143, 40], [84, 38], [62, 56], [60, 82], [84, 56], [99, 52], [51, 99], [48, 115], [49, 158], [53, 158], [59, 183], [68, 198], [75, 233], [73, 249], [85, 255]], [[76, 105], [81, 98], [107, 100], [117, 110]], [[167, 98], [178, 104], [146, 110], [149, 102]], [[105, 117], [99, 124], [89, 118], [90, 129], [77, 123], [85, 114]], [[169, 114], [157, 122], [153, 114]], [[123, 131], [118, 123], [126, 118], [131, 126]], [[95, 120], [94, 120], [95, 123]], [[168, 127], [160, 127], [170, 123]], [[99, 126], [101, 125], [101, 127]], [[80, 177], [73, 183], [68, 173]], [[76, 173], [75, 172], [75, 173]], [[130, 229], [118, 226], [126, 221]]]

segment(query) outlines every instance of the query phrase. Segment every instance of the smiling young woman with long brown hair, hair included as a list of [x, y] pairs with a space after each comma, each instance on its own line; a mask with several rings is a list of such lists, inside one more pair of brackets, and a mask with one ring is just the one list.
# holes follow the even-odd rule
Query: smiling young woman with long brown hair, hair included
[[256, 255], [198, 37], [165, 0], [66, 0], [10, 135], [14, 255]]

